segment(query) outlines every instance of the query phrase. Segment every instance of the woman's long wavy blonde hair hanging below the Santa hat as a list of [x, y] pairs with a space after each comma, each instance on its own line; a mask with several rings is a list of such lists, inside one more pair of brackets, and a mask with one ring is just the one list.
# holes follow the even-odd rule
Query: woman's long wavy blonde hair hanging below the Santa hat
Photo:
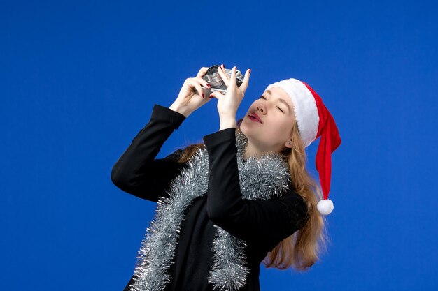
[[[237, 121], [236, 130], [240, 130], [242, 120]], [[205, 147], [204, 143], [188, 145], [184, 148], [178, 162], [187, 162], [197, 149], [203, 147]], [[295, 191], [307, 202], [308, 220], [300, 230], [283, 239], [268, 252], [262, 263], [266, 268], [292, 267], [297, 271], [307, 271], [320, 260], [320, 254], [327, 251], [329, 238], [325, 229], [325, 218], [316, 209], [316, 204], [323, 199], [323, 194], [316, 180], [306, 170], [306, 151], [299, 137], [296, 122], [292, 127], [292, 148], [285, 147], [281, 154], [289, 165]]]

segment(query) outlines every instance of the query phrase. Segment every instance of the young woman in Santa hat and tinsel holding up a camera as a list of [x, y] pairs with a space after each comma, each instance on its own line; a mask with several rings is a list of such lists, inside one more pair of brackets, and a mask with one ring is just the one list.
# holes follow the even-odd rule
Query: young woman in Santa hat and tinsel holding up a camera
[[[311, 87], [288, 79], [269, 85], [236, 122], [250, 70], [238, 87], [236, 67], [229, 77], [222, 65], [227, 92], [210, 98], [202, 94], [202, 86], [211, 87], [206, 70], [185, 80], [169, 108], [154, 105], [113, 166], [115, 186], [157, 202], [125, 290], [260, 290], [261, 262], [304, 271], [325, 249], [330, 154], [341, 143], [330, 112]], [[219, 130], [155, 159], [211, 98], [218, 100]], [[304, 148], [317, 137], [323, 195], [305, 168]]]

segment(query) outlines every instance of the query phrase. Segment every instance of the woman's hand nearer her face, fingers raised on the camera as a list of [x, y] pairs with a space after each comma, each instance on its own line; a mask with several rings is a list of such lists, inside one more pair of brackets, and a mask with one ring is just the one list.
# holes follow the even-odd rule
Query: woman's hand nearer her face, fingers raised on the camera
[[222, 77], [225, 86], [227, 86], [227, 93], [222, 95], [222, 93], [216, 91], [210, 94], [210, 96], [211, 98], [216, 97], [216, 99], [218, 99], [218, 112], [221, 119], [232, 118], [236, 120], [237, 108], [239, 108], [243, 96], [245, 96], [246, 89], [248, 88], [251, 69], [246, 70], [243, 82], [240, 87], [238, 87], [236, 84], [237, 67], [234, 66], [232, 68], [231, 77], [228, 77], [227, 73], [225, 73], [225, 67], [222, 66], [218, 68], [218, 73], [220, 77]]

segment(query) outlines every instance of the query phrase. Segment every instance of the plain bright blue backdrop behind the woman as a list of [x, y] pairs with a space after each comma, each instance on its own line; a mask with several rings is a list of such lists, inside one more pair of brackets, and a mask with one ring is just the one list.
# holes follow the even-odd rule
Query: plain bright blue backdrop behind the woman
[[[437, 13], [436, 1], [1, 1], [0, 290], [125, 287], [155, 204], [116, 188], [111, 168], [153, 104], [222, 63], [252, 69], [238, 117], [295, 77], [342, 139], [328, 253], [303, 274], [261, 266], [262, 290], [437, 290]], [[216, 103], [157, 157], [217, 131]]]

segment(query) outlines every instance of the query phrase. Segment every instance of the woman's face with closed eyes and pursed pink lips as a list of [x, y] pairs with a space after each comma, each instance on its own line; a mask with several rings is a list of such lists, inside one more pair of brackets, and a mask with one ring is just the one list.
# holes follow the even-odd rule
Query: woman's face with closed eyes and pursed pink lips
[[[260, 121], [250, 117], [253, 114], [257, 114]], [[248, 154], [278, 153], [283, 147], [292, 147], [288, 141], [294, 123], [294, 105], [288, 94], [279, 87], [264, 91], [250, 105], [240, 125], [242, 133], [248, 137]]]

